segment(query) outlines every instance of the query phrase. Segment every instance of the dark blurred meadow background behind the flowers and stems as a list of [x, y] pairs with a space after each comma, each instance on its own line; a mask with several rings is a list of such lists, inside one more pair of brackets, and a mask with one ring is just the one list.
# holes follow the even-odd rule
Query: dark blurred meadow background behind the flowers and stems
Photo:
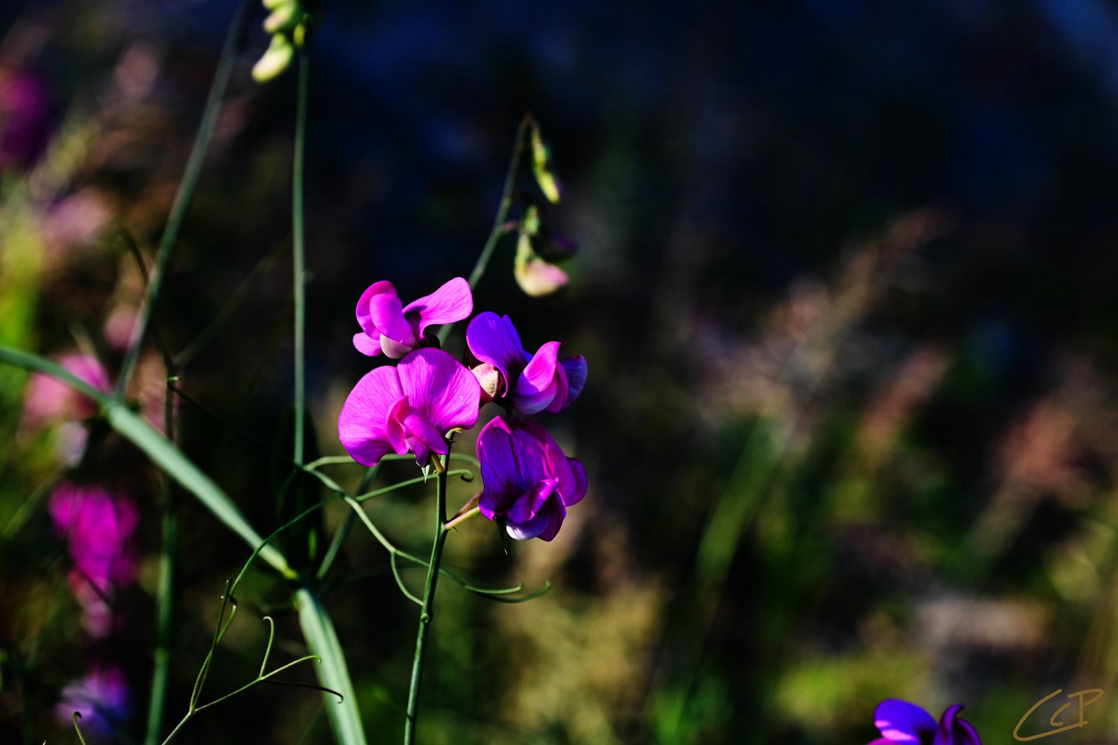
[[[93, 353], [112, 378], [143, 292], [124, 235], [150, 265], [235, 8], [0, 4], [0, 341]], [[266, 533], [293, 380], [295, 85], [252, 82], [262, 18], [157, 323], [182, 350], [241, 298], [179, 385], [265, 445], [186, 402], [179, 440]], [[997, 743], [1057, 688], [1107, 691], [1061, 738], [1118, 739], [1116, 41], [1109, 0], [328, 4], [307, 155], [321, 452], [341, 452], [371, 364], [350, 343], [358, 296], [470, 271], [528, 111], [566, 188], [548, 218], [580, 245], [557, 297], [519, 290], [512, 239], [475, 292], [531, 348], [586, 355], [584, 395], [548, 426], [590, 490], [552, 543], [505, 555], [483, 519], [451, 536], [455, 566], [555, 586], [519, 605], [440, 589], [421, 742], [862, 745], [901, 697], [965, 704]], [[164, 378], [152, 346], [131, 398], [153, 421]], [[75, 462], [80, 412], [31, 401], [0, 370], [0, 742], [72, 742], [56, 704], [110, 669], [130, 706], [100, 737], [139, 742], [158, 479], [114, 436]], [[107, 632], [67, 580], [61, 478], [139, 510]], [[423, 550], [429, 490], [370, 513]], [[181, 508], [169, 719], [247, 553]], [[328, 595], [376, 743], [402, 728], [415, 633], [385, 562], [354, 531]], [[303, 653], [285, 598], [249, 576], [211, 691], [255, 675], [266, 612], [277, 653]], [[177, 742], [329, 743], [322, 706], [260, 687]]]

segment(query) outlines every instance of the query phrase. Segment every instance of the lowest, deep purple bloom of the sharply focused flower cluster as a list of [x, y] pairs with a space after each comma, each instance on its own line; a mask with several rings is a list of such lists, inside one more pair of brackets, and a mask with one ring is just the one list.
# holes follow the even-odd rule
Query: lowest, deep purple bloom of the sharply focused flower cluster
[[498, 417], [477, 436], [482, 515], [518, 541], [550, 541], [567, 508], [586, 496], [586, 469], [547, 430], [528, 419]]

